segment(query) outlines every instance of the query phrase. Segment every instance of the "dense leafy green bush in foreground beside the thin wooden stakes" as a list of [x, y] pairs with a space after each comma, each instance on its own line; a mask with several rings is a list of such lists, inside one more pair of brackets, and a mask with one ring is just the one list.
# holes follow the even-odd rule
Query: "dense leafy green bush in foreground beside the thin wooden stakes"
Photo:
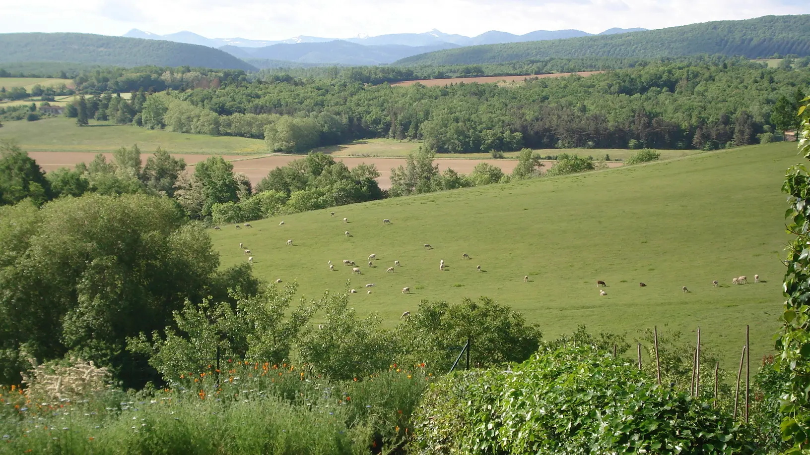
[[414, 423], [418, 453], [754, 453], [730, 416], [590, 346], [446, 376]]

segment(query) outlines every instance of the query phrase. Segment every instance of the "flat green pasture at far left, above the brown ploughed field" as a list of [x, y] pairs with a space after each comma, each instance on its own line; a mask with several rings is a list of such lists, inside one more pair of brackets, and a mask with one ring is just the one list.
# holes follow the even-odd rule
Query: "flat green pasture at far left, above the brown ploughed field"
[[266, 152], [266, 145], [260, 139], [147, 130], [109, 121], [90, 121], [90, 126], [79, 128], [75, 119], [67, 117], [6, 121], [0, 128], [0, 138], [15, 139], [27, 151], [102, 153], [137, 143], [145, 152], [155, 151], [159, 146], [176, 153], [257, 155]]

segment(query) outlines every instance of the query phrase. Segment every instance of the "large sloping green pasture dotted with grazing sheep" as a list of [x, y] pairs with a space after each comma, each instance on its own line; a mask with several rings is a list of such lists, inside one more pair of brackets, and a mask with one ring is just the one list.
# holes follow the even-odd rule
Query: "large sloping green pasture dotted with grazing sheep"
[[[780, 257], [789, 238], [780, 187], [785, 169], [800, 161], [791, 143], [741, 147], [341, 206], [333, 209], [335, 218], [319, 210], [254, 222], [252, 229], [224, 226], [211, 236], [224, 266], [245, 261], [238, 247], [244, 242], [255, 274], [297, 280], [308, 298], [343, 291], [351, 280], [356, 309], [381, 313], [387, 325], [423, 299], [489, 296], [538, 322], [550, 337], [580, 324], [627, 332], [631, 340], [653, 325], [686, 334], [701, 325], [705, 347], [731, 369], [745, 325], [751, 325], [755, 365], [778, 327]], [[393, 224], [384, 226], [384, 218]], [[285, 245], [288, 239], [293, 246]], [[366, 259], [371, 253], [378, 259], [373, 268]], [[463, 260], [463, 253], [472, 259]], [[343, 259], [363, 274], [352, 274]], [[387, 274], [394, 260], [402, 267]], [[731, 278], [743, 274], [751, 281], [760, 274], [766, 283], [732, 286]], [[599, 296], [597, 279], [608, 283], [608, 296]], [[721, 287], [712, 287], [714, 279]], [[372, 294], [366, 283], [376, 283]], [[406, 286], [411, 295], [401, 292]]]

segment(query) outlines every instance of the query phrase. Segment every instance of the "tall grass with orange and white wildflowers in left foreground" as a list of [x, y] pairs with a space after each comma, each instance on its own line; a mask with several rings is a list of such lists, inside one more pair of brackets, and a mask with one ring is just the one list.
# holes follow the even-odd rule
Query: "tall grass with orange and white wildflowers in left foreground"
[[429, 377], [420, 368], [330, 381], [242, 363], [167, 389], [44, 402], [0, 389], [0, 453], [369, 453], [403, 446]]

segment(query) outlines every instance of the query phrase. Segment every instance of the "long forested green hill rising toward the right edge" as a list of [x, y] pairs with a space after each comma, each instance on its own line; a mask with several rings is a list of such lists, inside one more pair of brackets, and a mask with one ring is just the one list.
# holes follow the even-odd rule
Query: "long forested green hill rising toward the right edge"
[[471, 65], [549, 57], [677, 57], [723, 54], [749, 58], [774, 53], [810, 55], [810, 15], [693, 23], [682, 27], [565, 40], [445, 49], [394, 65]]

